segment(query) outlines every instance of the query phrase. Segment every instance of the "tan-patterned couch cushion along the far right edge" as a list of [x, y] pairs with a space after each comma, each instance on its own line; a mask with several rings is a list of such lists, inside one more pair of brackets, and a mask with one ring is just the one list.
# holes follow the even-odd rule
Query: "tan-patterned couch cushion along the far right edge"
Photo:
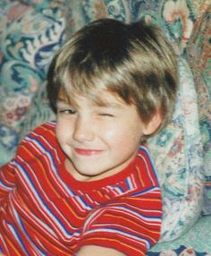
[[198, 17], [187, 46], [198, 93], [198, 113], [203, 142], [205, 192], [204, 214], [211, 214], [211, 4]]

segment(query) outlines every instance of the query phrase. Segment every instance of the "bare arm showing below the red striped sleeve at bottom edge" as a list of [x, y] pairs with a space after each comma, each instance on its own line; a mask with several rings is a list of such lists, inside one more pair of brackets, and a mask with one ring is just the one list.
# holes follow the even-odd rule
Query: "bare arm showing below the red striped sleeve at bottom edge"
[[125, 256], [126, 254], [118, 252], [112, 248], [106, 248], [97, 245], [85, 245], [76, 253], [77, 256]]

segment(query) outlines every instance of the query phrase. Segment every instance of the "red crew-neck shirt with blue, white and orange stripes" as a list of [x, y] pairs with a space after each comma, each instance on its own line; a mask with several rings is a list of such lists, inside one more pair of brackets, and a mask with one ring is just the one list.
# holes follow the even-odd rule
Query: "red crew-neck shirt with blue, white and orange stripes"
[[0, 171], [0, 252], [75, 255], [83, 245], [145, 255], [159, 239], [162, 202], [148, 150], [120, 173], [75, 180], [64, 167], [55, 123], [30, 132]]

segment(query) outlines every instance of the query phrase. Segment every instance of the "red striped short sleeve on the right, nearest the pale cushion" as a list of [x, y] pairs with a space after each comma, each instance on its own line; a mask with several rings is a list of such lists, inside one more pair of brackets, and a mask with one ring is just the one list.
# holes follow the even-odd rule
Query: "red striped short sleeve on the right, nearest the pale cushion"
[[160, 189], [148, 188], [91, 212], [79, 246], [92, 244], [126, 255], [145, 255], [159, 239], [161, 218]]

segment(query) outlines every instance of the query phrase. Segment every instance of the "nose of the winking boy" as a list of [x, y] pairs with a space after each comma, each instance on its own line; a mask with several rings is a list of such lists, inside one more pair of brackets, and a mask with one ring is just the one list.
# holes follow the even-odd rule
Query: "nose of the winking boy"
[[75, 121], [73, 139], [76, 141], [93, 141], [95, 132], [91, 124], [91, 120], [85, 117], [78, 117]]

